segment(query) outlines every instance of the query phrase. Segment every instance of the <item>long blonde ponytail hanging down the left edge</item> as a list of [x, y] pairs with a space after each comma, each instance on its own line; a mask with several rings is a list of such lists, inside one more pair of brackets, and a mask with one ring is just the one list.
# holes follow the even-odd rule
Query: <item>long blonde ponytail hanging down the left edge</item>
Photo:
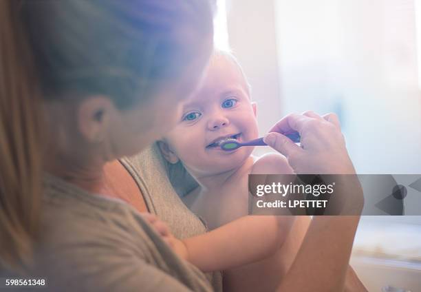
[[9, 269], [30, 259], [41, 190], [39, 92], [15, 5], [0, 3], [0, 268]]

